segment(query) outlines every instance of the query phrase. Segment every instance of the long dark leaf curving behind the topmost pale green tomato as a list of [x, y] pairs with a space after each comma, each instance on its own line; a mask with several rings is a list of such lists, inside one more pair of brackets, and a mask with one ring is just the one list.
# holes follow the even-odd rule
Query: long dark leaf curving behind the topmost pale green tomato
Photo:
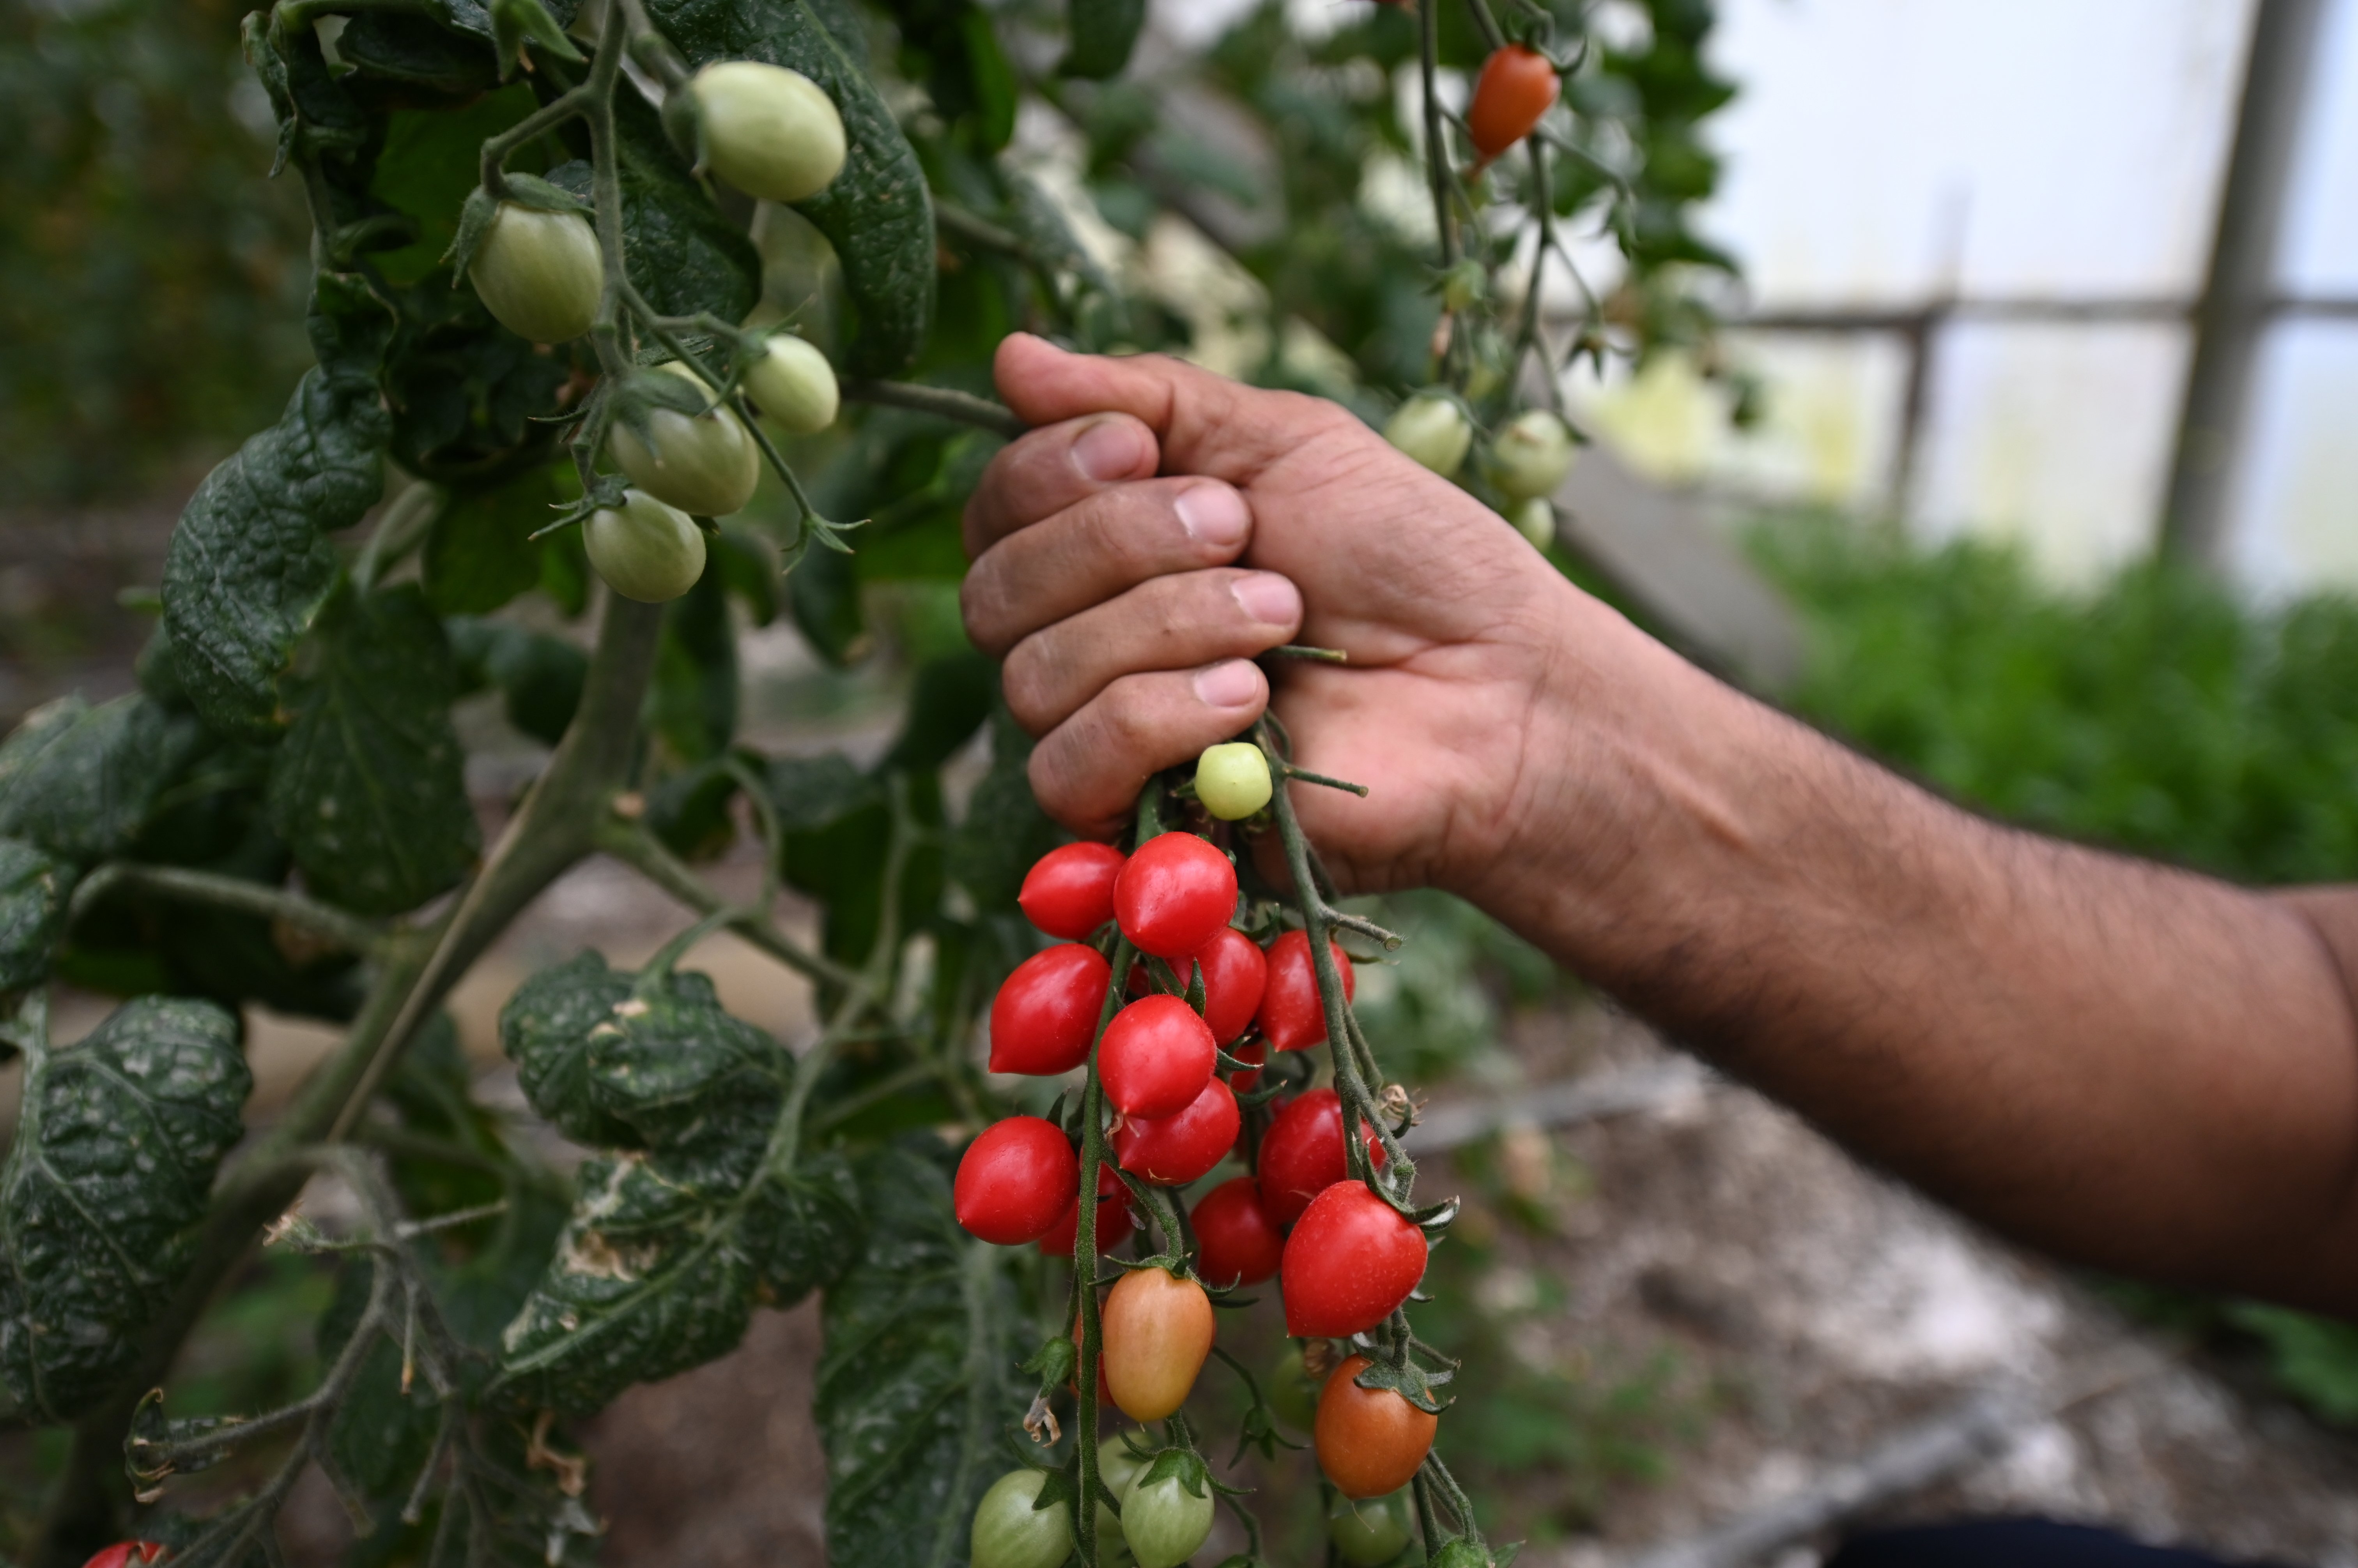
[[823, 19], [802, 0], [651, 0], [656, 26], [691, 64], [759, 59], [802, 71], [844, 118], [844, 170], [795, 210], [842, 262], [856, 323], [854, 375], [891, 375], [924, 349], [934, 321], [934, 200], [915, 149], [868, 80], [849, 12]]

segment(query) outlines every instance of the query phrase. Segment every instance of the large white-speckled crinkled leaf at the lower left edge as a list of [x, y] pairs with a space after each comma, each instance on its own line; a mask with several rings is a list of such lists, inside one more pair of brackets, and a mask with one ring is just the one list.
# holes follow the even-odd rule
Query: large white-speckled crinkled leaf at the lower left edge
[[33, 1052], [0, 1172], [0, 1377], [66, 1422], [97, 1403], [189, 1269], [189, 1228], [243, 1132], [236, 1019], [139, 997]]

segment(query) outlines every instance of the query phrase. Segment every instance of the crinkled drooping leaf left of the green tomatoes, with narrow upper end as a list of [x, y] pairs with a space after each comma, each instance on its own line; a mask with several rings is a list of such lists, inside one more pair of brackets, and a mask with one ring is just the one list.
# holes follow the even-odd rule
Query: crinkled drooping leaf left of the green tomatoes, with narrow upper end
[[205, 724], [266, 740], [285, 714], [278, 677], [335, 585], [323, 535], [361, 521], [384, 490], [389, 431], [375, 365], [391, 316], [361, 285], [321, 274], [311, 302], [318, 368], [278, 424], [248, 436], [196, 486], [163, 561], [163, 625], [182, 689]]

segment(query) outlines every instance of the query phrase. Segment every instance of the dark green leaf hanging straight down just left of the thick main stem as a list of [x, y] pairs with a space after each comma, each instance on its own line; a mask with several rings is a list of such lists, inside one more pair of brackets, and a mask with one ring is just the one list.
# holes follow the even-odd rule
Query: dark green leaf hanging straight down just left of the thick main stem
[[481, 846], [441, 620], [415, 585], [344, 589], [307, 653], [271, 764], [271, 828], [321, 898], [413, 910], [455, 887]]

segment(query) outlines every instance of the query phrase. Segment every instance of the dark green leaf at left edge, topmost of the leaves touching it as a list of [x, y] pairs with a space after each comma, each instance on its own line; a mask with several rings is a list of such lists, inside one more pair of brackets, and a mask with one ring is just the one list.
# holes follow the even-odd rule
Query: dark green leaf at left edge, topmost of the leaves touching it
[[144, 693], [47, 703], [0, 743], [0, 835], [78, 865], [111, 861], [200, 740]]

